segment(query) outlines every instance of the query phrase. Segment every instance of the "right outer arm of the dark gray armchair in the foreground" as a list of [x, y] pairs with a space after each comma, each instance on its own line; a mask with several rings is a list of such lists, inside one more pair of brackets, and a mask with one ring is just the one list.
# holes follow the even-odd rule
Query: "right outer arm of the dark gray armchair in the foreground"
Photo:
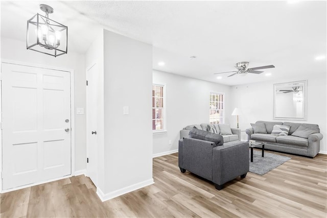
[[222, 185], [249, 172], [249, 144], [235, 141], [213, 149], [213, 182]]

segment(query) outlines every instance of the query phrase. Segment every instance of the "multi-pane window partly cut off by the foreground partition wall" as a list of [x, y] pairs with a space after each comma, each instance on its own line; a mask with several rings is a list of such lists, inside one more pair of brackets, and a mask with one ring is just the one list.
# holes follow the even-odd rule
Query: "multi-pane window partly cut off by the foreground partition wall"
[[152, 85], [152, 130], [160, 132], [165, 130], [165, 96], [164, 85]]

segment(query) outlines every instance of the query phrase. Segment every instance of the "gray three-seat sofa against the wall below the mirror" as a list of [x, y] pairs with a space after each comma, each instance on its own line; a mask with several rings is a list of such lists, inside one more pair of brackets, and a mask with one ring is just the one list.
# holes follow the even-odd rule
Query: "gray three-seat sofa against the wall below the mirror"
[[[320, 133], [319, 126], [317, 124], [266, 122], [262, 120], [255, 122], [255, 124], [264, 124], [267, 133], [256, 133], [252, 127], [246, 129], [245, 131], [247, 138], [248, 140], [252, 139], [266, 142], [265, 149], [303, 155], [312, 158], [319, 153], [320, 140], [323, 136]], [[274, 125], [289, 126], [290, 129], [288, 135], [272, 135], [271, 133]], [[303, 132], [306, 134], [303, 134]]]

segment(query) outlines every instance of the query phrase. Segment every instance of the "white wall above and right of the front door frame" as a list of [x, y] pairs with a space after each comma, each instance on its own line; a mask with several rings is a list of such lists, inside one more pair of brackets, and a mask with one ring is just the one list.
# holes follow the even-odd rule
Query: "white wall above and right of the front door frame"
[[[75, 109], [85, 108], [85, 57], [83, 54], [69, 52], [69, 45], [68, 54], [55, 58], [32, 50], [27, 50], [25, 41], [18, 41], [2, 37], [1, 58], [73, 69], [75, 73]], [[85, 130], [85, 114], [75, 115], [75, 172], [86, 168]]]

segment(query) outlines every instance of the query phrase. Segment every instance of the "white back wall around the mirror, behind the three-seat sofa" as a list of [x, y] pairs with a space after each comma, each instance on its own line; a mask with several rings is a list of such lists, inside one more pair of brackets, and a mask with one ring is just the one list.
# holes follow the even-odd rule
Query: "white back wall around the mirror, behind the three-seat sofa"
[[[273, 84], [293, 81], [308, 81], [307, 88], [307, 120], [275, 120], [273, 119]], [[250, 127], [257, 120], [281, 121], [293, 123], [318, 124], [323, 139], [320, 142], [320, 153], [327, 153], [326, 128], [326, 74], [310, 76], [310, 78], [285, 78], [273, 82], [251, 83], [231, 87], [232, 106], [242, 110], [239, 117], [240, 129]], [[231, 117], [235, 119], [235, 117]], [[245, 132], [242, 138], [246, 139]]]

